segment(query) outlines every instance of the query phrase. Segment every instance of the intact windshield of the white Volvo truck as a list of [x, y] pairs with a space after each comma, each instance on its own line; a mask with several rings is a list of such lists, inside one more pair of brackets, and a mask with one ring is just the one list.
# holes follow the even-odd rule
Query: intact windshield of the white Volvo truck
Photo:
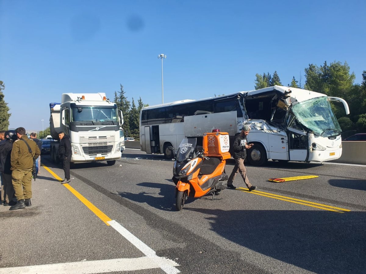
[[74, 106], [71, 108], [72, 122], [118, 122], [116, 108], [92, 107], [92, 106]]

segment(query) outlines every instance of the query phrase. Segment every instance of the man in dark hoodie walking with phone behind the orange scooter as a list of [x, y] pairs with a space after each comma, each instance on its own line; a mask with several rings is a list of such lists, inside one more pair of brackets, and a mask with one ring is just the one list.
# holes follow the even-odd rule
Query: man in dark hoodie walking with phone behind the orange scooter
[[247, 176], [247, 170], [244, 166], [244, 160], [247, 157], [247, 149], [251, 148], [253, 144], [247, 144], [247, 135], [249, 134], [250, 127], [247, 125], [243, 125], [242, 131], [240, 133], [235, 134], [233, 151], [234, 151], [234, 159], [235, 166], [230, 174], [228, 179], [228, 188], [235, 189], [236, 187], [232, 184], [234, 181], [236, 173], [240, 172], [243, 177], [244, 183], [248, 187], [249, 191], [255, 190], [256, 187], [252, 186], [249, 182]]

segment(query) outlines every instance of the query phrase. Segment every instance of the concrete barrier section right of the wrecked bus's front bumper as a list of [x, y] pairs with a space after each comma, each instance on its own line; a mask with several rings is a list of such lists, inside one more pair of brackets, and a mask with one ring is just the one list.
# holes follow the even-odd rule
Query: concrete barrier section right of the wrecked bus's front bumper
[[366, 141], [342, 142], [342, 156], [339, 163], [366, 164]]

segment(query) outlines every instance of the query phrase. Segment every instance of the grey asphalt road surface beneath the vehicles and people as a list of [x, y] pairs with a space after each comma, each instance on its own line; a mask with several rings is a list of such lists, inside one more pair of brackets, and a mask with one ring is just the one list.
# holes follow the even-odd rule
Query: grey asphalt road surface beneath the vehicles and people
[[[49, 156], [42, 163], [55, 175], [41, 169], [33, 205], [0, 207], [0, 274], [35, 265], [43, 268], [34, 273], [51, 273], [57, 264], [70, 270], [53, 273], [365, 273], [366, 166], [248, 165], [256, 191], [237, 176], [242, 190], [214, 201], [189, 198], [177, 212], [173, 161], [161, 155], [127, 149], [114, 166], [75, 165], [72, 189], [57, 181], [63, 171]], [[229, 160], [226, 171], [233, 166]], [[319, 177], [268, 182], [300, 175]]]

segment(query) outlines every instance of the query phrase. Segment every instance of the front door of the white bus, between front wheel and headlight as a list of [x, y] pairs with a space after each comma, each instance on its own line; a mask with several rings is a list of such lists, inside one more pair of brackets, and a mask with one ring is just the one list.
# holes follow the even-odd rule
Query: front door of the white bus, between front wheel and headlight
[[288, 147], [290, 161], [307, 161], [309, 159], [309, 140], [306, 131], [288, 128]]

